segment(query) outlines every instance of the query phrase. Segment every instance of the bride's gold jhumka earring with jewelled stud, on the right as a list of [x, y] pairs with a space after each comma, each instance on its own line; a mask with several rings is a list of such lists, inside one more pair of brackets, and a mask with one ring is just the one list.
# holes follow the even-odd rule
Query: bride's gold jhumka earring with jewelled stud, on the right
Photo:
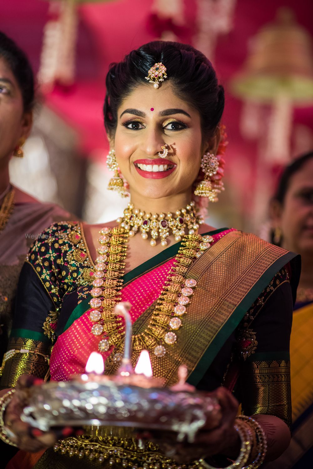
[[209, 202], [217, 202], [217, 194], [223, 189], [223, 182], [216, 184], [214, 177], [218, 170], [218, 159], [213, 153], [204, 153], [201, 158], [201, 169], [204, 173], [204, 179], [198, 182], [194, 195], [206, 197]]

